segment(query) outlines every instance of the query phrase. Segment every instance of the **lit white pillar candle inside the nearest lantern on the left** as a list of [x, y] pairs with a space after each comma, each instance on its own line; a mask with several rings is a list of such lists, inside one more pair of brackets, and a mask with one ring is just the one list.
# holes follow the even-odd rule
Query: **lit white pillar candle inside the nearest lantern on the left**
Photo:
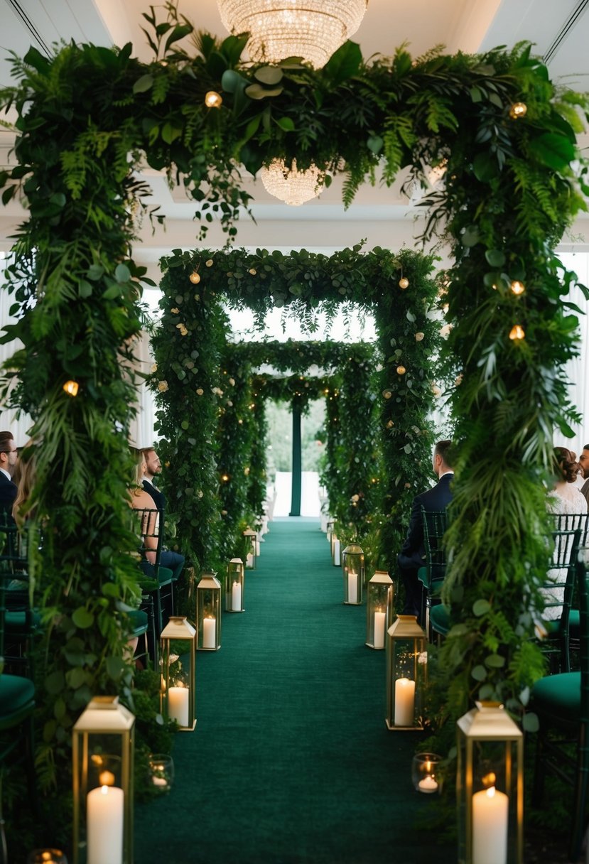
[[99, 786], [86, 797], [88, 864], [123, 864], [124, 792]]

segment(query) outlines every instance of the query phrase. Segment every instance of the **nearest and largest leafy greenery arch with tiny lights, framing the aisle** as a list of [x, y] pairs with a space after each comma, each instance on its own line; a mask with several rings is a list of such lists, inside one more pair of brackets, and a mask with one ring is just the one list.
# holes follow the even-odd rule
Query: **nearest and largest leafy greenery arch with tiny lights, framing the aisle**
[[[92, 693], [121, 687], [131, 697], [120, 608], [137, 590], [119, 550], [133, 543], [124, 502], [128, 365], [145, 274], [130, 248], [149, 213], [133, 173], [144, 161], [180, 174], [204, 227], [216, 213], [230, 237], [248, 199], [239, 163], [251, 170], [296, 157], [299, 168], [343, 170], [346, 203], [378, 167], [387, 183], [409, 166], [427, 184], [428, 166], [444, 165], [445, 186], [424, 204], [426, 237], [440, 227], [453, 251], [447, 356], [463, 376], [452, 398], [459, 623], [446, 643], [446, 713], [474, 695], [521, 708], [540, 669], [523, 637], [546, 557], [538, 537], [552, 431], [566, 435], [573, 416], [560, 370], [576, 350], [576, 319], [562, 300], [575, 276], [553, 248], [585, 208], [574, 133], [586, 98], [557, 92], [529, 45], [415, 61], [400, 49], [368, 65], [348, 43], [319, 71], [248, 67], [244, 37], [200, 35], [195, 54], [179, 48], [192, 27], [167, 10], [168, 22], [145, 16], [151, 63], [132, 58], [130, 45], [70, 44], [51, 58], [31, 49], [14, 60], [20, 84], [0, 97], [18, 115], [3, 201], [21, 190], [28, 203], [8, 271], [19, 321], [3, 336], [23, 347], [6, 374], [16, 379], [12, 403], [31, 413], [42, 442], [35, 518], [60, 526], [43, 548], [39, 585], [51, 634], [45, 785], [56, 761], [69, 764], [69, 730]], [[209, 90], [223, 92], [220, 110], [206, 107]], [[75, 399], [62, 390], [68, 378], [79, 382]]]

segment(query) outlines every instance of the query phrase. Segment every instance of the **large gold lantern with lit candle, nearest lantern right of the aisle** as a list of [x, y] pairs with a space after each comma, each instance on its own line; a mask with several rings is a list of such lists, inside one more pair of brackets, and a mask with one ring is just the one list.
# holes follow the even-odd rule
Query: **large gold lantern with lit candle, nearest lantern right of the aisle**
[[457, 723], [460, 864], [523, 862], [523, 733], [499, 702]]

